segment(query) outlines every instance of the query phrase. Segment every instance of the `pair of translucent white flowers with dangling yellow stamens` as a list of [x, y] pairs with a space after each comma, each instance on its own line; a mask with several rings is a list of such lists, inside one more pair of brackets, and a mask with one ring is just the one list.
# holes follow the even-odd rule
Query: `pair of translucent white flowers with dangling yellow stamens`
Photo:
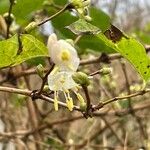
[[56, 34], [49, 36], [47, 46], [51, 60], [55, 63], [55, 68], [48, 76], [49, 88], [54, 91], [54, 108], [58, 111], [59, 92], [61, 91], [64, 93], [68, 109], [72, 111], [73, 100], [69, 90], [73, 90], [80, 103], [84, 104], [84, 99], [77, 93], [78, 85], [72, 79], [80, 63], [77, 51], [65, 40], [58, 40]]

